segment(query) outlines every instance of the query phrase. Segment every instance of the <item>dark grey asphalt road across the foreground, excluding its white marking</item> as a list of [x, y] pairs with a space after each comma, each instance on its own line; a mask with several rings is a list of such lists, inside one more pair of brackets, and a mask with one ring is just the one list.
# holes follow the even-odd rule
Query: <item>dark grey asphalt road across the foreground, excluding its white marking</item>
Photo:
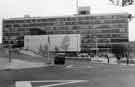
[[72, 64], [65, 66], [57, 65], [34, 69], [0, 71], [0, 87], [14, 87], [14, 82], [16, 81], [39, 80], [86, 80], [86, 82], [63, 84], [55, 87], [134, 87], [135, 66]]

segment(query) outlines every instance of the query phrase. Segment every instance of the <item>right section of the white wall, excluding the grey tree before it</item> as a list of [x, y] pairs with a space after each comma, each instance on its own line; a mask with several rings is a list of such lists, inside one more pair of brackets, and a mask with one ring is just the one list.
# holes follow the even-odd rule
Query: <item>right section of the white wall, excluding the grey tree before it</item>
[[61, 51], [62, 41], [65, 36], [69, 37], [69, 47], [67, 51], [80, 51], [80, 35], [79, 34], [65, 34], [65, 35], [51, 35], [51, 50], [55, 48], [55, 46], [59, 47]]

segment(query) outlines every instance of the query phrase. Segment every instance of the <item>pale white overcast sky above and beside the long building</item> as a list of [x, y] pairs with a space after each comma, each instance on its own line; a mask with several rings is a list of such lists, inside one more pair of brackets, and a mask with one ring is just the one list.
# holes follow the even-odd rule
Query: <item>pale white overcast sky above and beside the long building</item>
[[[78, 4], [90, 6], [91, 14], [121, 12], [135, 14], [135, 5], [119, 7], [112, 5], [109, 0], [78, 0]], [[73, 15], [76, 14], [76, 0], [0, 0], [0, 29], [3, 18], [23, 17], [25, 14], [32, 17]], [[135, 40], [134, 28], [135, 20], [132, 20], [129, 23], [130, 41]]]

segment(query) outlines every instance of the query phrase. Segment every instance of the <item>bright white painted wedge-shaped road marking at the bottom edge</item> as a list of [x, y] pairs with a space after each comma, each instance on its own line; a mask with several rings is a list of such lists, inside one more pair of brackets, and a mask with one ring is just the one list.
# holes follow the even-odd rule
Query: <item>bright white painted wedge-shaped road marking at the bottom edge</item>
[[16, 87], [32, 87], [31, 82], [60, 82], [60, 83], [52, 83], [51, 85], [44, 85], [39, 87], [53, 87], [58, 85], [66, 85], [66, 84], [72, 84], [72, 83], [80, 83], [80, 82], [88, 82], [88, 80], [41, 80], [41, 81], [17, 81]]

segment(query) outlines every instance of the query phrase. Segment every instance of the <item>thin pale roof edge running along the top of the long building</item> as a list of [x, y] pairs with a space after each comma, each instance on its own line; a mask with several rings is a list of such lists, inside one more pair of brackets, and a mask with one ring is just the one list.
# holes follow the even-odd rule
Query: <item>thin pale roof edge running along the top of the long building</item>
[[46, 17], [16, 17], [16, 18], [6, 18], [3, 20], [27, 20], [27, 19], [49, 19], [49, 18], [68, 18], [68, 17], [85, 17], [85, 16], [113, 16], [113, 15], [128, 15], [125, 13], [103, 13], [103, 14], [89, 14], [89, 15], [65, 15], [65, 16], [46, 16]]

